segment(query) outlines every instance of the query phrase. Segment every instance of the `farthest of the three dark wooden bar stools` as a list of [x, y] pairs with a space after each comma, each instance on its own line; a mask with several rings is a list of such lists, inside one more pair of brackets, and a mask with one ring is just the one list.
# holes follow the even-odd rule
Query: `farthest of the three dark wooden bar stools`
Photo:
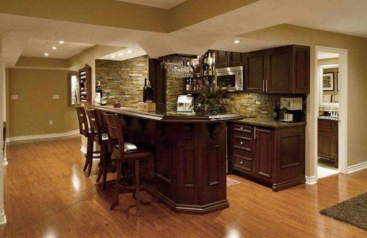
[[88, 118], [86, 115], [85, 108], [82, 106], [76, 106], [75, 109], [76, 114], [78, 115], [79, 133], [87, 138], [87, 153], [85, 154], [86, 159], [83, 171], [86, 171], [88, 167], [87, 177], [89, 177], [92, 171], [93, 158], [100, 158], [99, 155], [94, 154], [99, 153], [100, 151], [93, 151], [93, 137], [91, 130], [88, 127]]

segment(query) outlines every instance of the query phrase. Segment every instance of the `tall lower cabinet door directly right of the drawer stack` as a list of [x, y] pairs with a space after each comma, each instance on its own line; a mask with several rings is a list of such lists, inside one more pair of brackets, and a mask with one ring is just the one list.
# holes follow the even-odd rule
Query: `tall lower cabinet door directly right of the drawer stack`
[[272, 131], [256, 129], [256, 166], [254, 173], [263, 179], [272, 178]]

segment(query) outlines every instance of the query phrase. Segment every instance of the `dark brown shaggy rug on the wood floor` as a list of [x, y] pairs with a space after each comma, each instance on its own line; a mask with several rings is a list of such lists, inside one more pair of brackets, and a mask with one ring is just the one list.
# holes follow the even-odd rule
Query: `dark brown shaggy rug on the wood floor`
[[367, 231], [367, 193], [325, 208], [320, 213]]

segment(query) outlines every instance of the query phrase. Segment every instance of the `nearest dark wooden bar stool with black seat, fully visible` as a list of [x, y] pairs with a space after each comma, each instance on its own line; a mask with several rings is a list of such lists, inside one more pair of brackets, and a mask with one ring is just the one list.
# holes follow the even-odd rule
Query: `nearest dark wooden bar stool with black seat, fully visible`
[[[118, 196], [125, 193], [133, 193], [137, 201], [137, 216], [140, 216], [140, 190], [151, 186], [151, 191], [158, 200], [154, 181], [154, 146], [144, 142], [124, 142], [121, 121], [117, 114], [103, 112], [107, 125], [109, 151], [112, 158], [117, 160], [117, 174], [115, 194], [111, 204], [111, 210], [118, 204]], [[118, 144], [114, 145], [117, 139]], [[122, 176], [122, 166], [126, 161], [133, 162], [133, 175]], [[140, 162], [145, 161], [148, 165], [149, 175], [140, 174]]]

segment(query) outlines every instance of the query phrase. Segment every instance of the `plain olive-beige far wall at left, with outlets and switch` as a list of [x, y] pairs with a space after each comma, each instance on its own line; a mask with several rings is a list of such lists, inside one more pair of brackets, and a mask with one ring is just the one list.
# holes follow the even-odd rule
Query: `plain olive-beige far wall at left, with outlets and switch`
[[[14, 69], [8, 71], [9, 136], [63, 133], [78, 129], [74, 107], [69, 106], [69, 72]], [[60, 99], [52, 99], [59, 94]], [[19, 95], [10, 100], [10, 95]], [[49, 125], [53, 120], [53, 125]]]

